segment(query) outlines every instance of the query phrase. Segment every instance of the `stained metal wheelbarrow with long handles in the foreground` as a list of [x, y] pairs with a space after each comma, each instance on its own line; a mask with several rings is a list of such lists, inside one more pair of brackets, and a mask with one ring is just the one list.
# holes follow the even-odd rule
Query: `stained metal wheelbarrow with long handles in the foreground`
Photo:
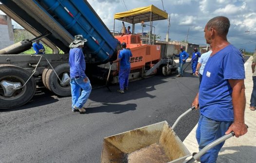
[[207, 150], [235, 135], [231, 132], [222, 136], [185, 161], [191, 153], [173, 129], [194, 109], [180, 115], [172, 127], [163, 121], [104, 138], [101, 163], [194, 163]]

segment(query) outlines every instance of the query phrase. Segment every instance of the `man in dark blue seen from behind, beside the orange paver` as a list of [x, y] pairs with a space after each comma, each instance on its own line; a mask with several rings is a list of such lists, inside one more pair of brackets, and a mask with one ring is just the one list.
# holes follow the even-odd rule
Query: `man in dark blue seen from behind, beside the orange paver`
[[110, 62], [110, 65], [113, 63], [120, 62], [120, 69], [119, 69], [119, 86], [120, 88], [117, 90], [121, 94], [125, 93], [124, 90], [128, 90], [128, 80], [129, 80], [129, 73], [130, 73], [130, 57], [132, 57], [131, 51], [126, 49], [126, 43], [123, 42], [121, 44], [122, 50], [119, 51], [118, 58]]

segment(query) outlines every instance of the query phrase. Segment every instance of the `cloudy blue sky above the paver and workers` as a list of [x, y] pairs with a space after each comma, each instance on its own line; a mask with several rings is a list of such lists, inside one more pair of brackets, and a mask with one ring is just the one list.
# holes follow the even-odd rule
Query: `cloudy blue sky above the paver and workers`
[[[114, 14], [153, 4], [170, 15], [169, 38], [186, 40], [192, 44], [206, 45], [203, 29], [215, 16], [230, 20], [228, 41], [238, 49], [253, 52], [256, 49], [256, 0], [87, 0], [106, 26], [113, 30]], [[163, 1], [163, 3], [162, 3]], [[1, 11], [0, 11], [1, 14]], [[146, 24], [149, 24], [148, 22]], [[126, 27], [131, 26], [125, 23]], [[155, 34], [165, 41], [168, 20], [153, 22]], [[132, 26], [131, 26], [132, 27]], [[122, 22], [115, 21], [115, 31], [121, 31]], [[189, 32], [188, 32], [189, 29]], [[144, 28], [148, 32], [149, 27]], [[245, 32], [250, 31], [250, 32]], [[141, 24], [135, 25], [135, 33], [141, 33]], [[160, 40], [160, 39], [159, 39]]]

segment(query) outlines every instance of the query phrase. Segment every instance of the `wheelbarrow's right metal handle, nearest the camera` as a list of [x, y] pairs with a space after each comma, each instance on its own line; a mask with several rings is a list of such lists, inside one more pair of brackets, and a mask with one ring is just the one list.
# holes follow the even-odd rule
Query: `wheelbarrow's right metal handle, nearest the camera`
[[[246, 125], [246, 127], [248, 128], [248, 126]], [[197, 154], [195, 154], [190, 160], [188, 160], [185, 163], [194, 163], [197, 159], [199, 159], [206, 151], [208, 151], [209, 149], [211, 149], [212, 147], [215, 147], [217, 145], [219, 145], [220, 143], [224, 142], [225, 140], [231, 138], [232, 136], [235, 136], [235, 132], [231, 131], [229, 134], [226, 134], [222, 137], [220, 137], [219, 139], [213, 141], [212, 143], [208, 144], [207, 146], [205, 146], [204, 148], [202, 148]]]

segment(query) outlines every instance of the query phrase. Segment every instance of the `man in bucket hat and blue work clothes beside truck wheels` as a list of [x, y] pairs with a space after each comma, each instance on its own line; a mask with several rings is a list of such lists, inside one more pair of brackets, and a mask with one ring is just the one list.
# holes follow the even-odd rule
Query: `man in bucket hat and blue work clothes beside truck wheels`
[[85, 113], [83, 106], [91, 93], [91, 83], [85, 74], [85, 57], [82, 50], [86, 41], [82, 35], [76, 35], [69, 46], [72, 112]]

